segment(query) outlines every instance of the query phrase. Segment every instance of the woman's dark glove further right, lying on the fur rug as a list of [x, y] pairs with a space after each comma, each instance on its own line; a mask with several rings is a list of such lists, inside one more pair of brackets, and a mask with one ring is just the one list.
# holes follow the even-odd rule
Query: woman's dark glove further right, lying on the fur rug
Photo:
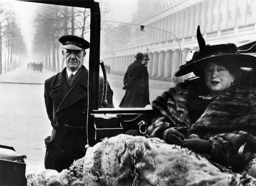
[[186, 139], [181, 143], [181, 147], [186, 147], [196, 153], [209, 154], [211, 152], [210, 143], [201, 139]]

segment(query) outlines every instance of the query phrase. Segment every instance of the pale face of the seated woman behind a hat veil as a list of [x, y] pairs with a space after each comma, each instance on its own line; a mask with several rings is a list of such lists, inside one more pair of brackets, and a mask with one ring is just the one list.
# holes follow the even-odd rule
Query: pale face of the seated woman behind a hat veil
[[211, 92], [221, 92], [230, 87], [234, 77], [224, 67], [215, 63], [208, 63], [204, 70], [205, 84]]

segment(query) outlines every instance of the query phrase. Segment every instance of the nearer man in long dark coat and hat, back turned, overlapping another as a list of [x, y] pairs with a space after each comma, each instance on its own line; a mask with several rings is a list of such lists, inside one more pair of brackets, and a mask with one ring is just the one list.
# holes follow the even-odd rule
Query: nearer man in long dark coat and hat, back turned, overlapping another
[[142, 61], [144, 56], [138, 52], [136, 60], [129, 65], [123, 78], [123, 90], [125, 94], [121, 103], [120, 108], [134, 108], [134, 107], [145, 107], [144, 103], [144, 65]]

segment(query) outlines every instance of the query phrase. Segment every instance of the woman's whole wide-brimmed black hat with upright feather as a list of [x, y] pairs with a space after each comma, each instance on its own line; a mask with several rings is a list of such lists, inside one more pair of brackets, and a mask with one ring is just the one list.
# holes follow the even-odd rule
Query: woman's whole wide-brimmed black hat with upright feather
[[187, 61], [185, 65], [181, 65], [175, 76], [182, 76], [190, 72], [194, 72], [196, 76], [202, 77], [205, 65], [208, 62], [221, 64], [232, 73], [232, 69], [254, 68], [256, 65], [256, 57], [240, 54], [237, 46], [233, 43], [206, 45], [204, 38], [197, 29], [197, 39], [199, 44], [199, 52], [195, 52], [193, 58]]

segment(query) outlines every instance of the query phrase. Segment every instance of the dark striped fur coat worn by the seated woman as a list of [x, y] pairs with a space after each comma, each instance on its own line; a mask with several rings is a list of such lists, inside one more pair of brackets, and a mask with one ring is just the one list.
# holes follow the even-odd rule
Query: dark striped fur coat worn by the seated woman
[[[175, 127], [187, 138], [208, 140], [212, 147], [210, 160], [239, 172], [256, 149], [256, 91], [232, 87], [214, 99], [203, 100], [199, 97], [207, 92], [199, 84], [182, 83], [157, 97], [152, 103], [157, 116], [147, 134], [162, 138], [165, 129]], [[244, 143], [244, 151], [239, 154]]]

